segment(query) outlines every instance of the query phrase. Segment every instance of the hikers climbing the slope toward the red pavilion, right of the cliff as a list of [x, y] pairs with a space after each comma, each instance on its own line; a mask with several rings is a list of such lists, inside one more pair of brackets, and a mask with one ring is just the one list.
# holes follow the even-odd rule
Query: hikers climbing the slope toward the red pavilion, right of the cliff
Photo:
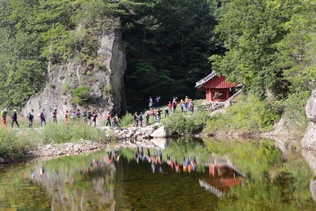
[[[165, 107], [165, 118], [169, 117], [169, 114], [171, 114], [172, 112], [173, 113], [176, 112], [177, 106], [178, 106], [177, 99], [178, 99], [178, 97], [173, 97], [172, 102], [169, 101], [169, 103]], [[155, 118], [155, 120], [157, 120], [157, 123], [160, 123], [161, 114], [162, 114], [163, 110], [161, 110], [159, 108], [159, 101], [160, 101], [160, 96], [156, 96], [155, 103], [153, 103], [152, 98], [150, 96], [148, 99], [149, 111], [146, 111], [145, 114], [140, 112], [139, 115], [137, 115], [137, 112], [135, 112], [135, 114], [132, 115], [132, 119], [134, 121], [133, 126], [138, 127], [138, 124], [139, 124], [140, 127], [142, 127], [142, 121], [144, 119], [144, 116], [146, 118], [146, 125], [149, 124], [149, 117], [150, 116], [152, 116], [152, 121]], [[180, 107], [181, 107], [181, 111], [185, 115], [188, 114], [188, 108], [189, 108], [189, 112], [191, 112], [191, 113], [194, 112], [194, 102], [192, 99], [189, 99], [188, 96], [186, 96], [185, 100], [183, 100], [183, 99], [180, 100]]]

